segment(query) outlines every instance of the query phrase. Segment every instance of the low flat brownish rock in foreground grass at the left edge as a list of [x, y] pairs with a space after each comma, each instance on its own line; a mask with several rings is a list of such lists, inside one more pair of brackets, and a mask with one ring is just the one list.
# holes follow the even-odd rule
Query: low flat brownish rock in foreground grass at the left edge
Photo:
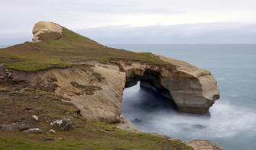
[[7, 131], [11, 131], [11, 130], [23, 131], [23, 130], [29, 129], [29, 126], [25, 123], [16, 122], [11, 124], [2, 124], [0, 125], [0, 129], [4, 129]]

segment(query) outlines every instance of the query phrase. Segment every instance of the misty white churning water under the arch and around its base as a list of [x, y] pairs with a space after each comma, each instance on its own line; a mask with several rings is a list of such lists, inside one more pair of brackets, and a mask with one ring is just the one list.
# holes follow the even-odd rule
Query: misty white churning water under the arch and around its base
[[155, 100], [157, 97], [138, 89], [137, 85], [125, 90], [122, 110], [129, 120], [141, 120], [134, 124], [145, 132], [158, 132], [183, 140], [228, 138], [241, 132], [256, 135], [255, 111], [236, 106], [225, 97], [210, 109], [210, 116], [196, 116], [161, 109], [163, 106]]

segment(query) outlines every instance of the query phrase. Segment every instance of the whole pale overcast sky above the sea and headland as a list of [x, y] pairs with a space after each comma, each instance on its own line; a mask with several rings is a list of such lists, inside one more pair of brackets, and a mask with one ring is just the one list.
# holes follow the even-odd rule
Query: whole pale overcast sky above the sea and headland
[[0, 45], [53, 21], [99, 43], [256, 43], [255, 0], [1, 0]]

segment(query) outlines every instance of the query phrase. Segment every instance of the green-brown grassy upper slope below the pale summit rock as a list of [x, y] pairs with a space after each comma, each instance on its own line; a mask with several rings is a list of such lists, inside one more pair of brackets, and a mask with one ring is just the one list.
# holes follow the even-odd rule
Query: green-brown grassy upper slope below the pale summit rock
[[25, 42], [0, 49], [0, 64], [7, 69], [37, 71], [53, 66], [75, 65], [69, 59], [96, 59], [106, 63], [112, 59], [130, 59], [160, 65], [168, 65], [151, 53], [132, 53], [123, 49], [102, 46], [87, 37], [83, 37], [63, 27], [60, 34], [41, 34], [41, 43]]

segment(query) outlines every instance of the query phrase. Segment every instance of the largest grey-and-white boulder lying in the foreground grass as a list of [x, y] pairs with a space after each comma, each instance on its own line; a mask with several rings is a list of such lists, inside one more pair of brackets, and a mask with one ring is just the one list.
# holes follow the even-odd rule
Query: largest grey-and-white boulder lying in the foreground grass
[[72, 122], [68, 118], [63, 118], [62, 120], [56, 120], [50, 123], [50, 128], [60, 129], [61, 131], [66, 131], [72, 129]]

